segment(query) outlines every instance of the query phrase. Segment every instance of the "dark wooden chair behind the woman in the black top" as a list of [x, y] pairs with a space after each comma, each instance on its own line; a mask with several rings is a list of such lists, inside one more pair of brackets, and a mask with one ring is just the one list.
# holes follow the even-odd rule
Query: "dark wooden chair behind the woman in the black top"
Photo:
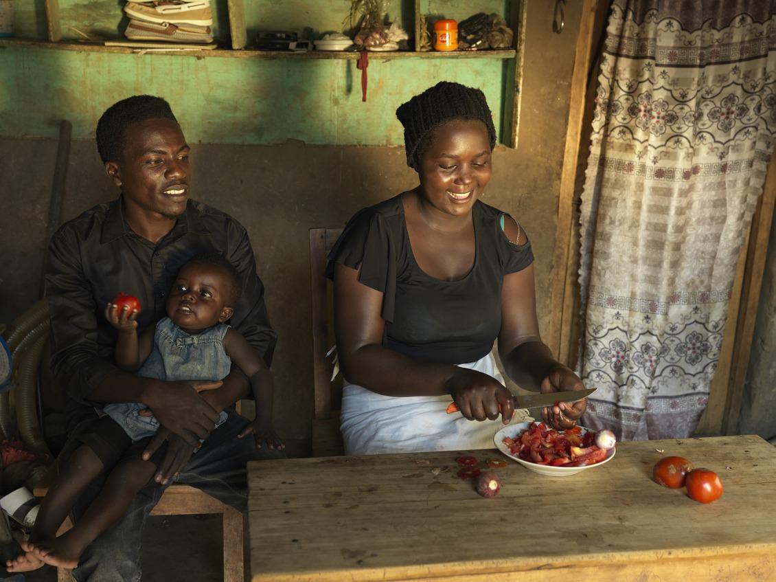
[[313, 456], [343, 455], [340, 433], [341, 386], [331, 382], [333, 365], [327, 353], [334, 345], [331, 284], [324, 274], [326, 258], [342, 233], [341, 228], [310, 229], [310, 292], [313, 307], [313, 375], [315, 415], [313, 419]]

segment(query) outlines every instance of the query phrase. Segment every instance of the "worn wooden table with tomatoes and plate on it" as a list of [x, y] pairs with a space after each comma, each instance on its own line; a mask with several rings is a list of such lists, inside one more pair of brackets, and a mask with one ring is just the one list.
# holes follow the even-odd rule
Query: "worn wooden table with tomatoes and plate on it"
[[[759, 437], [624, 442], [563, 478], [510, 461], [494, 499], [456, 478], [459, 454], [249, 463], [251, 580], [776, 580], [776, 448]], [[653, 483], [669, 455], [725, 493]]]

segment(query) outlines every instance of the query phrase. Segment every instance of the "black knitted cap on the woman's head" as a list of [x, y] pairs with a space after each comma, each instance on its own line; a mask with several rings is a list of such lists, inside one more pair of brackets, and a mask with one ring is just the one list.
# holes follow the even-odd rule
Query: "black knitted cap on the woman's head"
[[441, 81], [420, 95], [403, 103], [396, 116], [404, 126], [404, 149], [407, 165], [415, 170], [422, 155], [431, 145], [434, 130], [452, 120], [479, 120], [487, 129], [490, 149], [496, 147], [496, 128], [480, 89], [460, 83]]

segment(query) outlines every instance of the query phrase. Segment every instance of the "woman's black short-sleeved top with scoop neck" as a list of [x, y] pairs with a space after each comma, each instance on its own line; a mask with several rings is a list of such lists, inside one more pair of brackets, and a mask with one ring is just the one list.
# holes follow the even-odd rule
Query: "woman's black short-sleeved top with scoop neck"
[[401, 195], [355, 213], [329, 254], [359, 269], [359, 282], [383, 293], [383, 345], [424, 362], [476, 362], [490, 352], [501, 328], [504, 275], [533, 262], [531, 244], [508, 240], [503, 213], [479, 200], [473, 206], [475, 256], [456, 281], [435, 279], [415, 262]]

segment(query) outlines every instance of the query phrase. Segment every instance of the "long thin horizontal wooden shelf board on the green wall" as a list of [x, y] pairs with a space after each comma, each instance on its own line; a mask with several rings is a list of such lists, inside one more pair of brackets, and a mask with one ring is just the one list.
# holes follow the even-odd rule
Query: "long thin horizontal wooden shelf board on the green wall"
[[[227, 57], [227, 58], [263, 58], [263, 59], [352, 59], [359, 58], [359, 52], [334, 51], [334, 50], [310, 50], [305, 53], [294, 53], [278, 50], [233, 50], [217, 48], [210, 50], [176, 49], [174, 44], [162, 45], [154, 48], [139, 47], [106, 47], [102, 43], [86, 43], [80, 41], [60, 41], [52, 43], [47, 40], [0, 38], [0, 47], [32, 47], [54, 50], [92, 51], [98, 53], [144, 53], [144, 54], [179, 54], [192, 57]], [[370, 59], [395, 59], [395, 58], [495, 58], [513, 59], [516, 56], [514, 49], [505, 50], [455, 50], [450, 52], [424, 52], [413, 51], [369, 51]]]

